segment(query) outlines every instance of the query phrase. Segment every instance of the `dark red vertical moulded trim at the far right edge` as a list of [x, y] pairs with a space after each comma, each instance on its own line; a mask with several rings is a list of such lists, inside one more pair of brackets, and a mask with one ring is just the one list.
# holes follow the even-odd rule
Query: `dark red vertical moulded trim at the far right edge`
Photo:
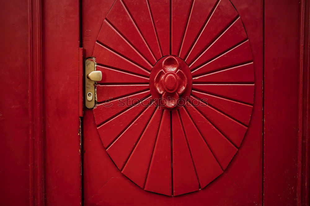
[[297, 205], [309, 205], [310, 1], [300, 1]]

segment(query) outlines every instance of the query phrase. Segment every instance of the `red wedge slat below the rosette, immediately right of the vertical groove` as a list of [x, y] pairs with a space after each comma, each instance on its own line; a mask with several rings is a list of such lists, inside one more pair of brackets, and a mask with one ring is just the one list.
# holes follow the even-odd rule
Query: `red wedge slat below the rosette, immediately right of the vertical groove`
[[199, 190], [199, 182], [178, 111], [171, 118], [173, 195], [181, 195]]

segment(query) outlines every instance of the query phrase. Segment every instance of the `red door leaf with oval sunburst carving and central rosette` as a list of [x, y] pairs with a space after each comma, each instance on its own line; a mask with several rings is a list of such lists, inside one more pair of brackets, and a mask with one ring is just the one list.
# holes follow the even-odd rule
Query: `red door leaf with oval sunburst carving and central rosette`
[[84, 5], [85, 205], [261, 204], [262, 4]]

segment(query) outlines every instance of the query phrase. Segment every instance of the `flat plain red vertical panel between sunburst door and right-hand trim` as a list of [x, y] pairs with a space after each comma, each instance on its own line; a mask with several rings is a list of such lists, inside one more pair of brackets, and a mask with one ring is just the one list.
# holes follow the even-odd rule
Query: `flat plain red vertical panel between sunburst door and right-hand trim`
[[[272, 9], [275, 6], [277, 9]], [[297, 205], [297, 139], [298, 129], [301, 129], [298, 125], [300, 80], [297, 72], [300, 5], [291, 1], [283, 1], [280, 5], [276, 1], [266, 1], [264, 8], [263, 200], [266, 205]], [[283, 16], [286, 12], [290, 15]], [[281, 36], [277, 35], [278, 31]]]

